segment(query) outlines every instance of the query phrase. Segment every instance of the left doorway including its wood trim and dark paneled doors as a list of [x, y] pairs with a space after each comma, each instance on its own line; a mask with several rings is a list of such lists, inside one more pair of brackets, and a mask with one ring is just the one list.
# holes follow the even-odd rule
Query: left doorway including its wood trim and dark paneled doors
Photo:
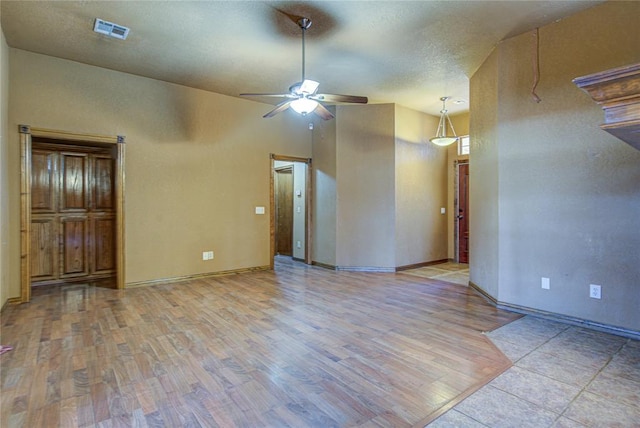
[[21, 298], [36, 285], [124, 288], [124, 137], [20, 126]]

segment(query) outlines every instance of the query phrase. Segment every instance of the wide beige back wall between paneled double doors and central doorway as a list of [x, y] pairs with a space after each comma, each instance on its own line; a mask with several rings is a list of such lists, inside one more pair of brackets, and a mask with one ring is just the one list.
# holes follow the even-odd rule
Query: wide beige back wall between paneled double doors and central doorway
[[[18, 124], [126, 136], [127, 283], [269, 265], [269, 155], [310, 157], [308, 120], [289, 112], [266, 120], [264, 104], [10, 55], [11, 268], [19, 266]], [[214, 260], [202, 261], [207, 250]], [[17, 296], [18, 281], [11, 285]]]

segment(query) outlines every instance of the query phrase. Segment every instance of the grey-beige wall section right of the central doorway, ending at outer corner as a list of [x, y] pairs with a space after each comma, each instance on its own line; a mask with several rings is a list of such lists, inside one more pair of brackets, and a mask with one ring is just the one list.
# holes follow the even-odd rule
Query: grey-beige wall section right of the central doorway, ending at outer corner
[[393, 269], [394, 105], [343, 105], [336, 110], [336, 264]]

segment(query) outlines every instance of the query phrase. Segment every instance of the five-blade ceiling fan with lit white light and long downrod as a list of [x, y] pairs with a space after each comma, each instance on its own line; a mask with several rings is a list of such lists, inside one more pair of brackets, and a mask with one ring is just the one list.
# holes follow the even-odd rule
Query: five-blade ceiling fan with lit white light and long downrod
[[304, 74], [304, 33], [311, 27], [309, 18], [298, 19], [298, 26], [302, 30], [302, 80], [294, 83], [289, 87], [289, 93], [286, 94], [240, 94], [241, 97], [275, 97], [285, 98], [284, 101], [276, 105], [276, 108], [265, 114], [263, 117], [272, 117], [285, 111], [289, 107], [297, 113], [305, 116], [309, 113], [315, 113], [324, 120], [333, 119], [333, 114], [322, 104], [327, 103], [354, 103], [366, 104], [369, 100], [367, 97], [356, 95], [338, 95], [338, 94], [319, 94], [318, 82], [305, 78]]

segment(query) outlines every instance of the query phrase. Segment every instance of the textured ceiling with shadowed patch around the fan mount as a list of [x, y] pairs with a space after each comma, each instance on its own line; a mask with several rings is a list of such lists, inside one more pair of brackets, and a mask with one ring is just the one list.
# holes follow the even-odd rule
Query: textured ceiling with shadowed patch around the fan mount
[[[438, 115], [441, 96], [468, 110], [469, 77], [493, 47], [602, 1], [8, 1], [11, 47], [238, 96], [286, 92], [306, 76], [320, 92]], [[129, 27], [125, 41], [95, 18]]]

